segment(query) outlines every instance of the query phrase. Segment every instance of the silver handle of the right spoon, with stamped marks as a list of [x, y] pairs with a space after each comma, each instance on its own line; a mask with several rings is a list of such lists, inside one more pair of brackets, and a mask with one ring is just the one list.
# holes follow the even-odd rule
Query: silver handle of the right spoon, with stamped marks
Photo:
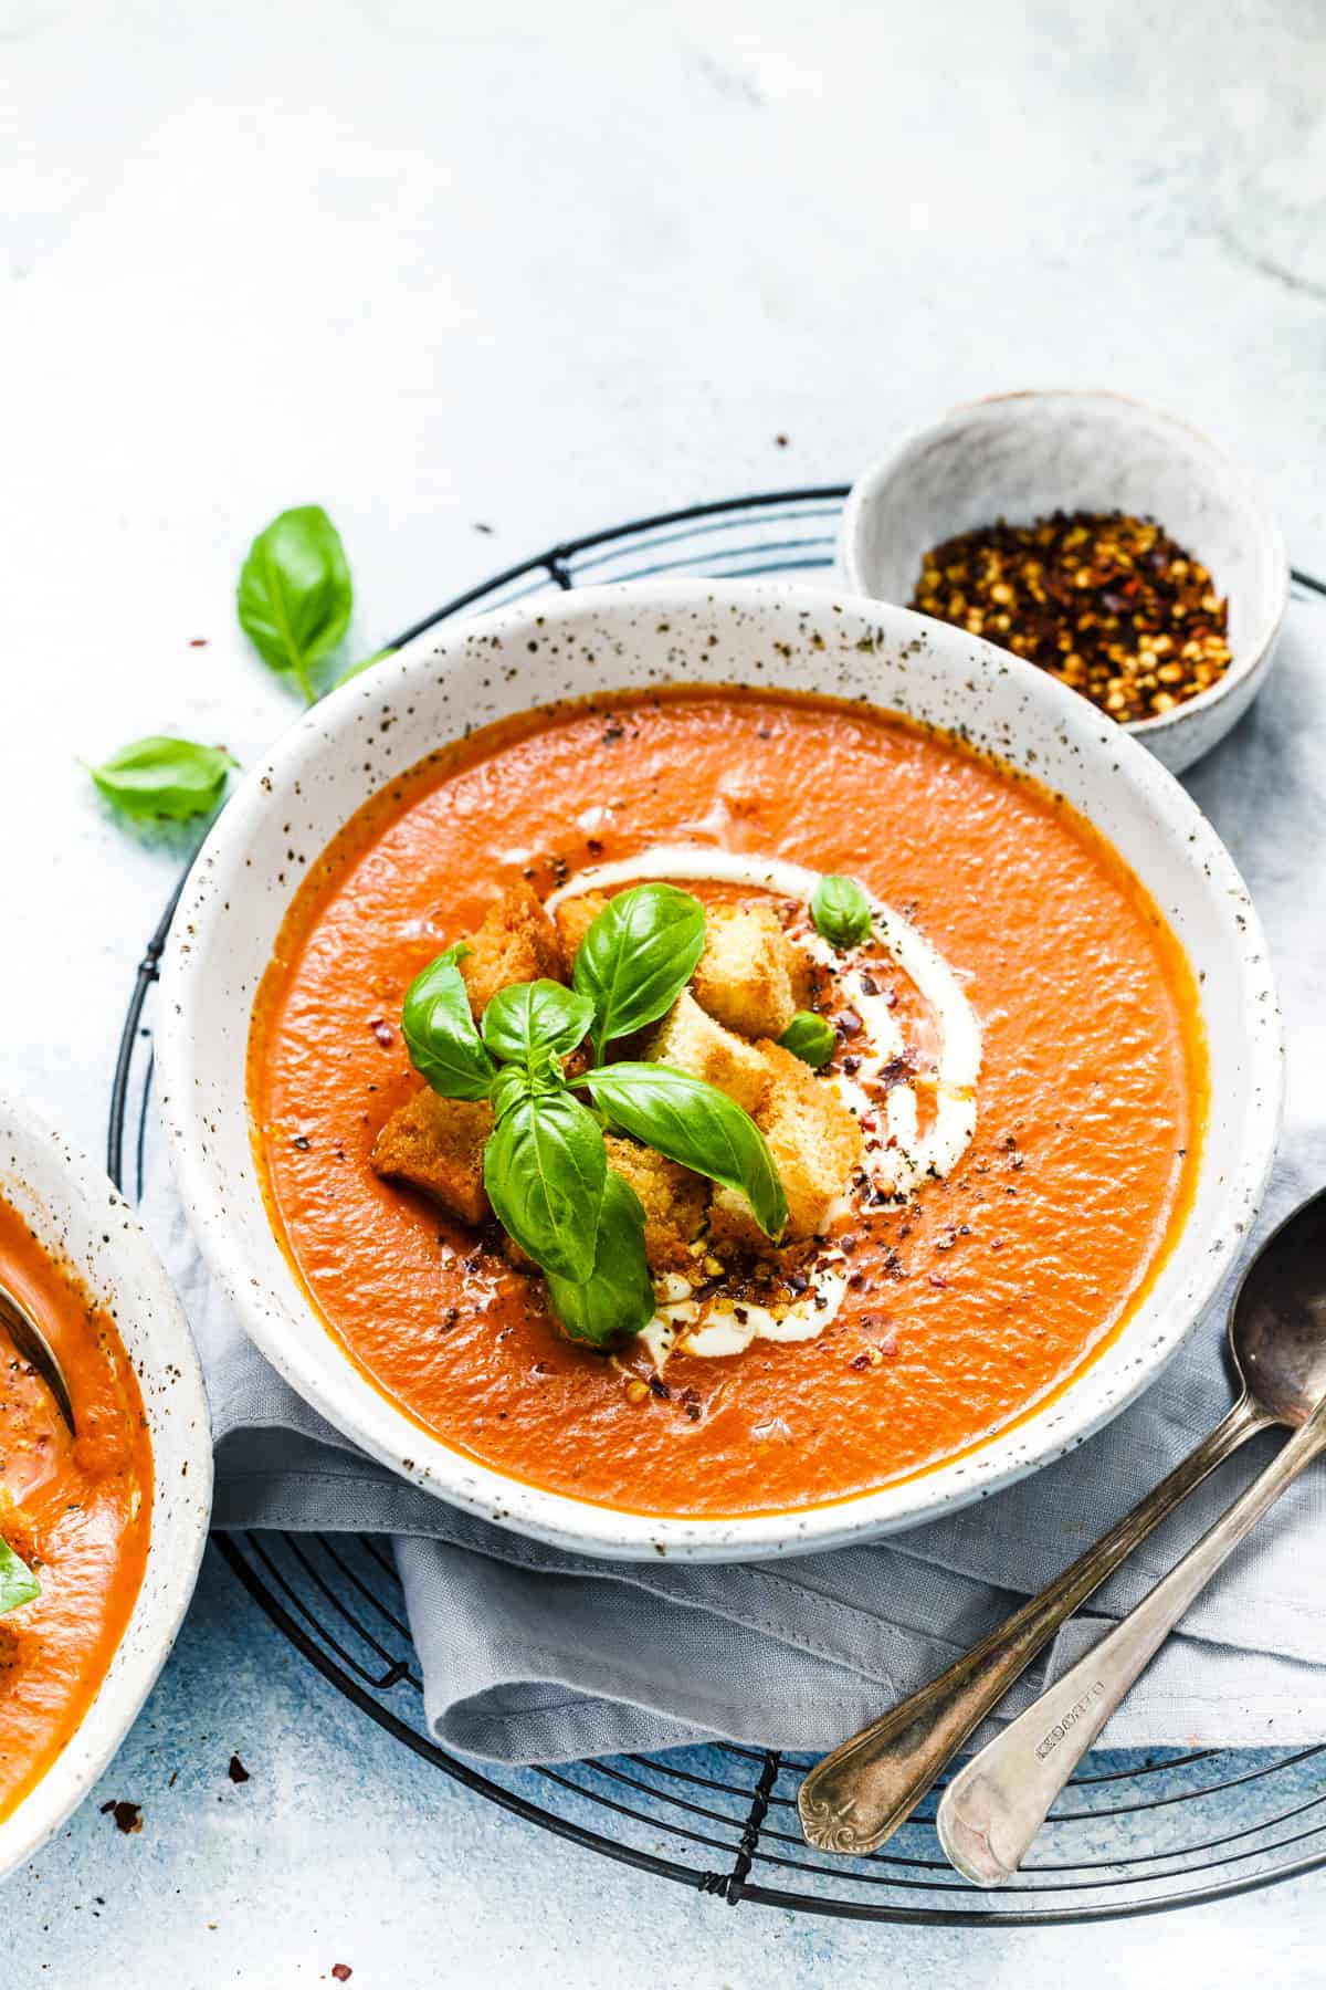
[[1050, 1805], [1187, 1606], [1322, 1451], [1326, 1401], [1151, 1594], [952, 1779], [936, 1823], [958, 1873], [978, 1887], [1012, 1879]]

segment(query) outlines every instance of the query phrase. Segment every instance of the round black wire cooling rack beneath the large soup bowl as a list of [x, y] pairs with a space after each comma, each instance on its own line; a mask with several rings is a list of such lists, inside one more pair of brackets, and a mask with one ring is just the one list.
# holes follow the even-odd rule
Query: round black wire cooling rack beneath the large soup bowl
[[[584, 581], [658, 573], [815, 573], [833, 565], [845, 486], [761, 492], [614, 525], [507, 567], [398, 641], [463, 611]], [[1326, 595], [1312, 575], [1300, 589]], [[151, 1106], [151, 989], [175, 901], [137, 971], [109, 1112], [109, 1172], [141, 1198]], [[1326, 1865], [1326, 1743], [1087, 1757], [1040, 1857], [996, 1894], [944, 1861], [934, 1799], [869, 1859], [801, 1841], [795, 1789], [811, 1757], [712, 1745], [547, 1769], [479, 1769], [437, 1747], [392, 1544], [356, 1534], [217, 1534], [249, 1594], [370, 1719], [455, 1783], [602, 1859], [738, 1904], [857, 1920], [1028, 1926], [1157, 1914]]]

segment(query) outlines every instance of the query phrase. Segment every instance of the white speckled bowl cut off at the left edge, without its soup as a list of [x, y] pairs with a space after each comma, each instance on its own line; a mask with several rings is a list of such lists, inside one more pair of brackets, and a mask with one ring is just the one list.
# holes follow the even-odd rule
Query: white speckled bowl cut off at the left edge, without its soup
[[153, 1451], [151, 1542], [129, 1628], [74, 1737], [0, 1823], [4, 1879], [83, 1801], [175, 1644], [207, 1544], [213, 1445], [189, 1323], [133, 1210], [95, 1162], [16, 1098], [0, 1098], [0, 1196], [113, 1315]]

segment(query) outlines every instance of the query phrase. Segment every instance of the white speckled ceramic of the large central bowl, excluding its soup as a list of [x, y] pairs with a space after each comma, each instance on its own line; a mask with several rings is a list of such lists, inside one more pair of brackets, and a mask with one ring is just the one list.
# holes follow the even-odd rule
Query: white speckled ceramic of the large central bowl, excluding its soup
[[[962, 728], [1058, 786], [1137, 870], [1203, 981], [1217, 1093], [1195, 1208], [1127, 1327], [1038, 1415], [883, 1492], [791, 1514], [656, 1520], [517, 1485], [447, 1449], [338, 1351], [272, 1238], [249, 1146], [245, 1047], [300, 878], [370, 792], [467, 726], [559, 695], [670, 681], [827, 691]], [[734, 581], [602, 587], [419, 637], [334, 693], [252, 770], [185, 888], [157, 1029], [163, 1114], [209, 1264], [286, 1379], [441, 1498], [586, 1554], [744, 1560], [909, 1526], [1081, 1443], [1175, 1353], [1239, 1250], [1280, 1108], [1256, 913], [1207, 820], [1115, 724], [1042, 671], [905, 609]]]

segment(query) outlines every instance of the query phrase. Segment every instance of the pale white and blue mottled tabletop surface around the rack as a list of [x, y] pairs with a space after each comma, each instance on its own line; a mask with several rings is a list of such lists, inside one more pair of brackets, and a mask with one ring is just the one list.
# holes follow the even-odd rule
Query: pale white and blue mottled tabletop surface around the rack
[[[1326, 567], [1324, 103], [1316, 0], [0, 0], [0, 1083], [99, 1146], [187, 846], [78, 756], [292, 716], [231, 609], [286, 503], [342, 525], [366, 653], [561, 533], [1099, 384]], [[89, 1803], [10, 1883], [4, 1990], [1278, 1990], [1326, 1934], [1312, 1881], [1085, 1934], [734, 1914], [441, 1783], [221, 1566], [99, 1797], [143, 1829]]]

